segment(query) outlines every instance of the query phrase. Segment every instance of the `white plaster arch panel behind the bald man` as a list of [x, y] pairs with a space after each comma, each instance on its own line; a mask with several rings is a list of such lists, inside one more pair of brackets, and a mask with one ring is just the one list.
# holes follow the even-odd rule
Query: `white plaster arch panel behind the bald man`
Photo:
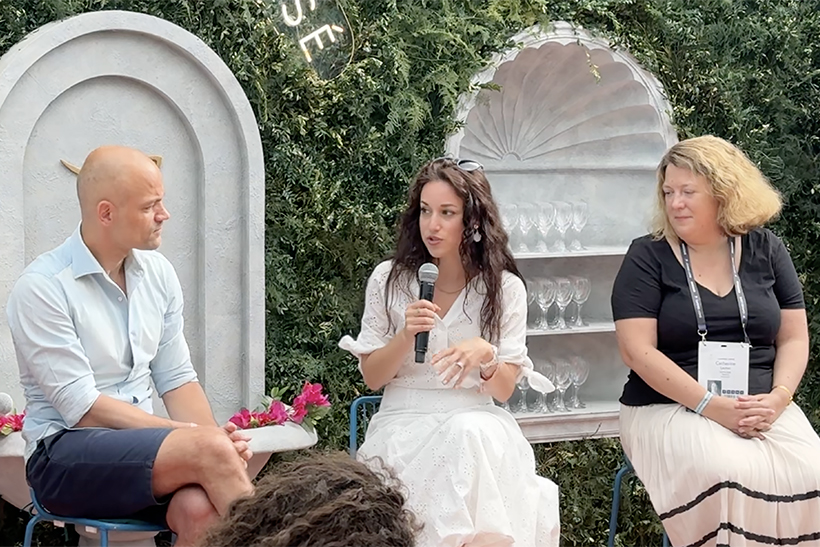
[[[185, 293], [185, 332], [218, 419], [264, 393], [264, 160], [248, 99], [202, 40], [159, 18], [92, 12], [0, 58], [0, 307], [22, 269], [79, 222], [93, 148], [163, 156], [172, 218], [160, 251]], [[0, 391], [24, 401], [5, 313]]]

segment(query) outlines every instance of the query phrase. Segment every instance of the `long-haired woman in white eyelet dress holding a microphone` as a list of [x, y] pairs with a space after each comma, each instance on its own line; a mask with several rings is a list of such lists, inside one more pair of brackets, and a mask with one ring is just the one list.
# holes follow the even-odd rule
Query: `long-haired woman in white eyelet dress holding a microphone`
[[[535, 472], [515, 419], [493, 404], [526, 375], [527, 296], [480, 164], [440, 158], [410, 189], [392, 260], [367, 283], [361, 332], [340, 347], [384, 387], [358, 457], [378, 458], [407, 487], [421, 547], [557, 547], [558, 488]], [[417, 272], [438, 266], [433, 301]], [[414, 339], [429, 332], [423, 363]]]

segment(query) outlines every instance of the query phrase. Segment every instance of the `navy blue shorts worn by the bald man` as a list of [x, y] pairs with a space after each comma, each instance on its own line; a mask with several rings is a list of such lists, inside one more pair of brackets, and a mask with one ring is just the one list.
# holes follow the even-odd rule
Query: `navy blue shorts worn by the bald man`
[[55, 433], [41, 440], [29, 458], [28, 483], [55, 515], [166, 525], [170, 497], [154, 497], [151, 475], [171, 431], [89, 428]]

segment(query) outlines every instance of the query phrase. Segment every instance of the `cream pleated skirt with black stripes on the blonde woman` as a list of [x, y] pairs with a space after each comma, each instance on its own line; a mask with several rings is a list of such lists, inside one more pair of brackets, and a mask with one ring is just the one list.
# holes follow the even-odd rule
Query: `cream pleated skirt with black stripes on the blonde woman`
[[763, 440], [677, 404], [621, 406], [620, 420], [674, 547], [820, 547], [820, 438], [796, 404]]

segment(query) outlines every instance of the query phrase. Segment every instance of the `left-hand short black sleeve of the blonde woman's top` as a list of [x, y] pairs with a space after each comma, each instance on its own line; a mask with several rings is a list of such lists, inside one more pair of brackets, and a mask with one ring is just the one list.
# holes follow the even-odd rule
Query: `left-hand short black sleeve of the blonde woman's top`
[[612, 287], [612, 318], [657, 319], [662, 300], [661, 265], [648, 238], [629, 246]]

